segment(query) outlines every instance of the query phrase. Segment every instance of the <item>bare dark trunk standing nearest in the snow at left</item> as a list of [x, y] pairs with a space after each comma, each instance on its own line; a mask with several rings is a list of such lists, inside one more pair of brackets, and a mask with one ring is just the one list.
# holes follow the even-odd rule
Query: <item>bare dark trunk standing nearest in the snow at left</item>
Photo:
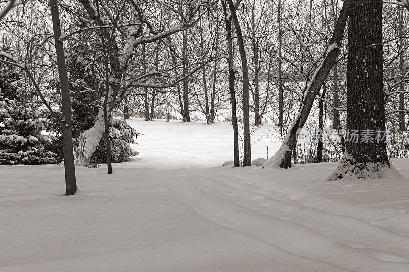
[[64, 170], [66, 195], [73, 195], [77, 190], [75, 179], [75, 164], [73, 152], [73, 134], [71, 126], [71, 97], [65, 65], [65, 53], [63, 40], [60, 39], [61, 28], [57, 0], [50, 0], [51, 16], [53, 20], [54, 44], [57, 53], [58, 75], [62, 95], [62, 118], [65, 126], [62, 126], [62, 148], [64, 152]]

